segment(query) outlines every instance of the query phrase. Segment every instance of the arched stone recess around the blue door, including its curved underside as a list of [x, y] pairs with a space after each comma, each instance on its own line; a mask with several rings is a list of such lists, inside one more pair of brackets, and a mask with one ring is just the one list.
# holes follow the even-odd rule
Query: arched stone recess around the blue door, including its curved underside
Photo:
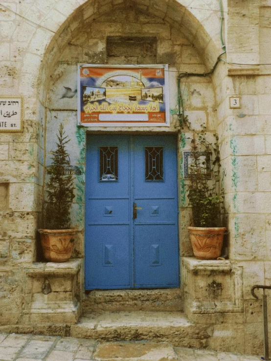
[[[217, 22], [218, 18], [215, 18]], [[207, 23], [207, 22], [206, 22]], [[218, 22], [217, 22], [218, 23]], [[71, 165], [80, 170], [76, 176], [76, 197], [72, 208], [73, 225], [79, 229], [73, 257], [84, 258], [85, 233], [85, 148], [86, 128], [77, 126], [77, 64], [169, 64], [170, 127], [161, 133], [179, 137], [180, 255], [193, 255], [186, 234], [189, 208], [182, 179], [180, 127], [174, 116], [178, 105], [177, 76], [181, 72], [204, 73], [219, 55], [219, 50], [203, 25], [177, 1], [113, 1], [105, 4], [88, 1], [62, 24], [47, 47], [41, 71], [40, 148], [44, 166], [50, 163], [56, 133], [63, 122], [71, 141], [68, 144]], [[192, 127], [205, 124], [211, 134], [217, 128], [216, 102], [211, 77], [186, 78], [181, 84], [184, 110]], [[127, 132], [127, 128], [97, 127], [91, 132]], [[129, 132], [151, 133], [146, 127]], [[43, 140], [42, 140], [43, 142]], [[189, 146], [188, 146], [189, 147]], [[44, 154], [42, 154], [44, 153]], [[44, 177], [45, 181], [45, 177]], [[82, 287], [84, 289], [84, 287]], [[176, 302], [180, 303], [180, 295]], [[180, 309], [180, 307], [177, 307]]]

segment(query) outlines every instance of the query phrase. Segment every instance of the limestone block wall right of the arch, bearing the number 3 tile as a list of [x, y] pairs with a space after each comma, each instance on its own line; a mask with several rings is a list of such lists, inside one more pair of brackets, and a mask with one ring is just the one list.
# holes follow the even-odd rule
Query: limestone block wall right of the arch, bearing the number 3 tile
[[[247, 63], [246, 57], [243, 63]], [[228, 251], [230, 259], [237, 260], [238, 265], [243, 267], [244, 290], [244, 314], [228, 317], [227, 320], [236, 323], [232, 338], [242, 338], [242, 349], [255, 353], [256, 349], [262, 349], [258, 323], [262, 317], [262, 302], [252, 297], [250, 289], [255, 284], [270, 285], [270, 113], [264, 109], [269, 103], [267, 99], [270, 99], [270, 90], [265, 84], [270, 80], [261, 70], [255, 73], [252, 67], [249, 75], [242, 74], [243, 68], [235, 68], [236, 74], [230, 77], [225, 69], [225, 78], [220, 81], [223, 68], [226, 68], [225, 64], [220, 64], [215, 79], [218, 82], [216, 94], [221, 94], [218, 98], [218, 129], [222, 141], [222, 168], [225, 170], [223, 184], [228, 213]], [[229, 109], [228, 96], [219, 90], [223, 88], [228, 88], [230, 95], [240, 96], [240, 109]], [[246, 116], [240, 118], [238, 114]], [[228, 330], [231, 326], [227, 326]], [[222, 329], [226, 330], [222, 325], [215, 327], [215, 347], [227, 347], [219, 346]]]

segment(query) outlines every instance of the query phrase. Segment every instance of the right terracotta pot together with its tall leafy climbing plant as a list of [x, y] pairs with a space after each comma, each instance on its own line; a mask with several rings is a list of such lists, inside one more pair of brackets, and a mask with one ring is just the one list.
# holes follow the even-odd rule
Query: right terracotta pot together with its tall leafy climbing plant
[[188, 227], [194, 255], [216, 259], [221, 255], [226, 228], [222, 227], [224, 195], [219, 190], [220, 153], [215, 143], [206, 140], [206, 127], [193, 131], [188, 176], [188, 199], [192, 207], [193, 227]]

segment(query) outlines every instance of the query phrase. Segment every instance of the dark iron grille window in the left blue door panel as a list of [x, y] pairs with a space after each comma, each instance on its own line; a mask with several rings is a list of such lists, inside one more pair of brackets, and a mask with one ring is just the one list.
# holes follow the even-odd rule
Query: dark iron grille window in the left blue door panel
[[100, 147], [100, 181], [118, 180], [117, 147]]

